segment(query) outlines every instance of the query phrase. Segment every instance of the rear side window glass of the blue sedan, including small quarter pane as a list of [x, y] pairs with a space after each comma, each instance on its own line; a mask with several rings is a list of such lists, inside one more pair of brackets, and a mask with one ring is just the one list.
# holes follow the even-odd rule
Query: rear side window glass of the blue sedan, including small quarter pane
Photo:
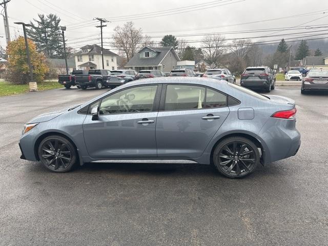
[[190, 85], [168, 85], [164, 110], [188, 110], [227, 106], [227, 95]]

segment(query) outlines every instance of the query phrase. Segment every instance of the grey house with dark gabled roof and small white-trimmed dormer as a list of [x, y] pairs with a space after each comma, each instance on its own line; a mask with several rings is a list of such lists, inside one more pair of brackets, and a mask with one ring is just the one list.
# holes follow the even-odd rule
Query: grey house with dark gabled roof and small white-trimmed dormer
[[162, 72], [171, 72], [176, 68], [179, 60], [173, 47], [145, 46], [128, 61], [125, 67], [136, 71], [158, 69]]

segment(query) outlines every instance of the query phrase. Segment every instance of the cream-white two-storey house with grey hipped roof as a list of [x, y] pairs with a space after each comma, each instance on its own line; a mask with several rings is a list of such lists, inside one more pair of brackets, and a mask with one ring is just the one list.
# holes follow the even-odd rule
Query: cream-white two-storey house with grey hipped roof
[[[117, 69], [117, 54], [103, 49], [104, 69]], [[86, 45], [74, 54], [76, 69], [102, 69], [101, 47], [99, 45]]]

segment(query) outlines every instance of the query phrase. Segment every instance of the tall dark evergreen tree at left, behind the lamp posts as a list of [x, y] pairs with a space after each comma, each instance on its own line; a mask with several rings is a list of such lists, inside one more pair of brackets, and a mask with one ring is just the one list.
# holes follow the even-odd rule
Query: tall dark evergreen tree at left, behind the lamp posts
[[63, 37], [60, 30], [60, 18], [55, 14], [38, 14], [39, 19], [30, 22], [27, 32], [36, 44], [37, 50], [48, 58], [64, 58]]

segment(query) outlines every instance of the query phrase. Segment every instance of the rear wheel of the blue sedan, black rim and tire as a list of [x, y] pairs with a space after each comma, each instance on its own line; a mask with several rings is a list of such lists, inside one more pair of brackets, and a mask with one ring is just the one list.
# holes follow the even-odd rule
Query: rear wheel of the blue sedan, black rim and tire
[[[245, 154], [239, 155], [238, 150]], [[243, 178], [250, 175], [259, 162], [260, 154], [257, 146], [244, 137], [223, 139], [213, 152], [214, 166], [222, 175], [229, 178]]]

